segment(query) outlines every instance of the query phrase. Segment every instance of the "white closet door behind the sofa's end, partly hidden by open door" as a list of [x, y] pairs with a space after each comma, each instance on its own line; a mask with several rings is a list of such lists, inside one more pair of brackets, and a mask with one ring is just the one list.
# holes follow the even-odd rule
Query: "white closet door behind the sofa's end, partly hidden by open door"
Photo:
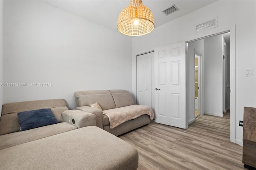
[[137, 104], [151, 107], [151, 59], [154, 52], [137, 56]]

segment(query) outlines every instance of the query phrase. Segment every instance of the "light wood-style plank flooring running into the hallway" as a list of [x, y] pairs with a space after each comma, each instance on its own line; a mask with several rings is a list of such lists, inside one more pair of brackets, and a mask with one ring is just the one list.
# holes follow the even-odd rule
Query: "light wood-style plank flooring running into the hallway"
[[119, 137], [139, 152], [138, 170], [247, 170], [230, 142], [230, 115], [200, 115], [188, 129], [150, 123]]

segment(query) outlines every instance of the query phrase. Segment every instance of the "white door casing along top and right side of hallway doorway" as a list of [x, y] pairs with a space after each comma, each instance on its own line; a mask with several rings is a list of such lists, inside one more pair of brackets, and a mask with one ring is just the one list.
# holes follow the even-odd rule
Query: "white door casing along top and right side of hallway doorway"
[[185, 42], [201, 40], [227, 32], [230, 32], [230, 141], [241, 145], [242, 142], [236, 140], [236, 26], [191, 38]]

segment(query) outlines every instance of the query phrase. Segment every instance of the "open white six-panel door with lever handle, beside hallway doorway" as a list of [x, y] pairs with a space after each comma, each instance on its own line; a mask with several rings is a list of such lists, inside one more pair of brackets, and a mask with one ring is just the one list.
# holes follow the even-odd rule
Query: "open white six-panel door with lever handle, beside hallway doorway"
[[155, 49], [155, 122], [186, 125], [185, 42]]

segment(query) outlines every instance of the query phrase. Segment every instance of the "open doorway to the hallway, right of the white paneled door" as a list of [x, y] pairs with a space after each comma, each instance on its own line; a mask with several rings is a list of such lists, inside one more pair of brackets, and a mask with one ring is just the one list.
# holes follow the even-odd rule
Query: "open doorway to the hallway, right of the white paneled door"
[[[230, 47], [230, 31], [187, 43], [188, 123], [204, 114], [223, 117], [224, 113], [230, 113], [230, 108], [232, 114], [230, 85], [234, 77], [230, 74], [234, 67], [234, 62], [231, 63], [234, 61], [234, 46]], [[235, 132], [232, 130], [234, 115], [230, 119], [230, 140], [234, 142], [231, 139]]]

